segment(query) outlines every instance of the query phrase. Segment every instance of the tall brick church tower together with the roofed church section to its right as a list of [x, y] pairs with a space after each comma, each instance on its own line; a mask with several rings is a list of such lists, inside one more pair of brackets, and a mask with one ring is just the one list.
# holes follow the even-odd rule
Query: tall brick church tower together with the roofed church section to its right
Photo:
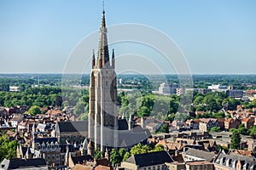
[[88, 138], [95, 150], [105, 152], [111, 148], [128, 148], [148, 139], [150, 133], [141, 126], [135, 126], [130, 116], [118, 118], [117, 83], [115, 56], [108, 50], [108, 29], [105, 11], [102, 11], [102, 25], [97, 54], [93, 50], [90, 72], [90, 101], [88, 116]]

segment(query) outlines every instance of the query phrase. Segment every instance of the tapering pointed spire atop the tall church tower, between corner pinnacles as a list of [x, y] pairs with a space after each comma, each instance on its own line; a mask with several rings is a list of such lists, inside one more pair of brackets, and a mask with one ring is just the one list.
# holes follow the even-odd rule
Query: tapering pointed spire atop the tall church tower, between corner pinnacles
[[98, 48], [98, 56], [97, 56], [97, 66], [98, 68], [102, 68], [104, 65], [109, 65], [109, 53], [108, 53], [108, 37], [107, 37], [107, 28], [105, 21], [105, 10], [103, 8], [102, 11], [102, 26], [100, 29], [100, 41]]

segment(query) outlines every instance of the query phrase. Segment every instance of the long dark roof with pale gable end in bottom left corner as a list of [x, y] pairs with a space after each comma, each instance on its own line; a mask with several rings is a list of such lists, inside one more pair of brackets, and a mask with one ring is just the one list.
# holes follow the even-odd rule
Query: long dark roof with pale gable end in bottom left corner
[[36, 158], [36, 159], [4, 159], [1, 162], [1, 167], [4, 170], [7, 169], [19, 169], [19, 168], [26, 168], [26, 167], [47, 167], [46, 161], [44, 158]]

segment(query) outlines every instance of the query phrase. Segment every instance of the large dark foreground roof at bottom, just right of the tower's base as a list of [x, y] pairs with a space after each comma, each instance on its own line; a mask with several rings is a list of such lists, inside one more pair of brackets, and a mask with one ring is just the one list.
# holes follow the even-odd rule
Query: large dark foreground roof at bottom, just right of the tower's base
[[162, 150], [134, 155], [129, 157], [125, 162], [135, 164], [138, 167], [148, 167], [164, 164], [166, 162], [173, 162], [173, 160], [172, 156], [170, 156], [165, 150]]

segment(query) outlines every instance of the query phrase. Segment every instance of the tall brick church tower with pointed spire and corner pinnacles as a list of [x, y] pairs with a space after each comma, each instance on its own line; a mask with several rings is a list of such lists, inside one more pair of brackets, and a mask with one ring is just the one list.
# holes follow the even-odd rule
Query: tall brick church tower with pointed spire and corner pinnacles
[[117, 146], [117, 86], [114, 71], [114, 51], [110, 62], [105, 11], [102, 11], [100, 40], [95, 59], [92, 55], [90, 73], [90, 108], [88, 136], [94, 142], [95, 149], [105, 151], [106, 147]]

